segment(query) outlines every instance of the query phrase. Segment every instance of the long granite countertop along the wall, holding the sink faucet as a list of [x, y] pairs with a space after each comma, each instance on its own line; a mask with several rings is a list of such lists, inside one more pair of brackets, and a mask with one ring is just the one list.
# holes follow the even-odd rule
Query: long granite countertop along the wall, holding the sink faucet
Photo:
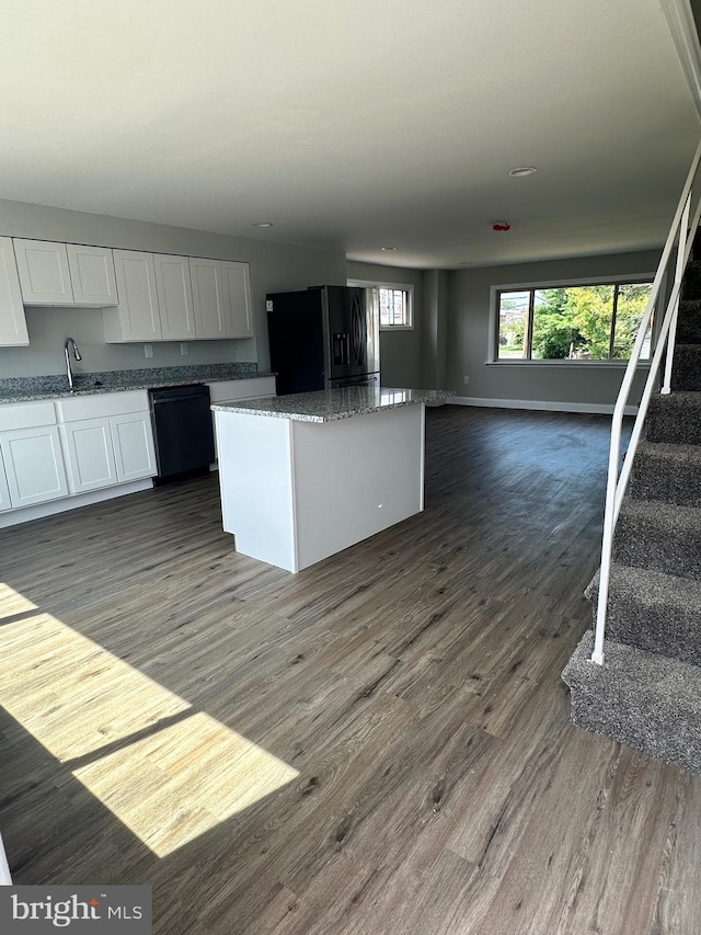
[[56, 399], [88, 396], [101, 392], [119, 392], [129, 389], [156, 389], [163, 386], [187, 386], [196, 383], [255, 379], [274, 374], [258, 372], [255, 364], [202, 364], [183, 367], [148, 367], [138, 370], [106, 370], [74, 374], [76, 389], [68, 388], [65, 374], [41, 377], [11, 377], [0, 379], [0, 404], [30, 402], [37, 399]]

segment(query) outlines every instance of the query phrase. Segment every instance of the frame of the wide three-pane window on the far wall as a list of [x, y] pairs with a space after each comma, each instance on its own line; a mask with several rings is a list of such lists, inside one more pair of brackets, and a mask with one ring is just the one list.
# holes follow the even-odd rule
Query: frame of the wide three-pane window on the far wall
[[[628, 273], [625, 275], [614, 275], [614, 276], [583, 276], [576, 280], [553, 280], [550, 282], [535, 282], [535, 283], [504, 283], [504, 284], [495, 284], [490, 286], [490, 327], [489, 327], [489, 346], [487, 346], [487, 358], [485, 361], [486, 364], [499, 366], [499, 367], [627, 367], [629, 357], [608, 357], [601, 358], [598, 361], [587, 361], [587, 360], [571, 360], [568, 357], [554, 358], [554, 360], [542, 360], [537, 358], [533, 360], [531, 357], [510, 357], [499, 358], [498, 356], [498, 340], [499, 340], [499, 301], [498, 297], [501, 293], [504, 292], [527, 292], [531, 290], [531, 296], [535, 294], [537, 289], [553, 289], [553, 288], [572, 288], [577, 286], [616, 286], [616, 285], [632, 285], [635, 283], [650, 283], [653, 284], [655, 278], [655, 273], [643, 272], [643, 273]], [[659, 290], [659, 296], [664, 296], [665, 292], [665, 282], [662, 283], [662, 288]], [[531, 298], [532, 303], [532, 298]], [[651, 345], [651, 358], [650, 360], [641, 360], [641, 366], [650, 366], [652, 355], [655, 351], [655, 344], [657, 341], [657, 315], [653, 315], [653, 333], [652, 333], [652, 345]], [[529, 321], [528, 321], [528, 346], [530, 352], [532, 353], [532, 327], [533, 327], [533, 313], [532, 308], [529, 309]], [[612, 332], [613, 333], [613, 332]]]

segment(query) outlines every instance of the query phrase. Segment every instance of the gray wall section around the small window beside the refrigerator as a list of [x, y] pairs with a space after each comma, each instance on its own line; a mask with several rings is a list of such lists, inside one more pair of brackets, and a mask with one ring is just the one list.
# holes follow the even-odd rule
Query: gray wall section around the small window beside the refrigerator
[[411, 331], [380, 332], [380, 379], [383, 386], [422, 386], [424, 295], [421, 270], [380, 266], [348, 261], [348, 280], [376, 283], [405, 283], [414, 286], [414, 328]]

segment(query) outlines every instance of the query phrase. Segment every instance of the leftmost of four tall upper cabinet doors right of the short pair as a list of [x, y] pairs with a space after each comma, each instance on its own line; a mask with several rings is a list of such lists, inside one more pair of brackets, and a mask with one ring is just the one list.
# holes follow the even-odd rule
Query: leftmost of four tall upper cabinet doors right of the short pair
[[161, 320], [152, 253], [114, 250], [122, 341], [156, 341]]

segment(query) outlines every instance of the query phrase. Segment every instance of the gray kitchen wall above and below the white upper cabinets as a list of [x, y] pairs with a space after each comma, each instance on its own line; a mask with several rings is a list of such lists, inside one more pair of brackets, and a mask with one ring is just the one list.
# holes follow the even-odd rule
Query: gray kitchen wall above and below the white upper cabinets
[[265, 294], [346, 282], [346, 260], [341, 251], [311, 250], [21, 202], [0, 199], [0, 235], [248, 262], [256, 317], [255, 339], [189, 341], [185, 357], [180, 354], [179, 343], [157, 342], [153, 357], [147, 360], [142, 344], [104, 343], [100, 309], [30, 308], [30, 346], [0, 347], [0, 377], [62, 373], [64, 341], [69, 334], [83, 355], [77, 365], [79, 370], [233, 361], [256, 361], [258, 368], [265, 370], [269, 368]]

